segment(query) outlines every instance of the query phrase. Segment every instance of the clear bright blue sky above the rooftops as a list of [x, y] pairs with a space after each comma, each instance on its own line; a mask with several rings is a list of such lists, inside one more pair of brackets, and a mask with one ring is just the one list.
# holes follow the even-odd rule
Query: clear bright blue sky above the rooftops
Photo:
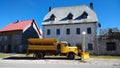
[[39, 28], [42, 28], [41, 22], [49, 6], [89, 6], [90, 2], [93, 2], [101, 28], [120, 29], [120, 0], [0, 0], [0, 28], [17, 20], [30, 19], [35, 19]]

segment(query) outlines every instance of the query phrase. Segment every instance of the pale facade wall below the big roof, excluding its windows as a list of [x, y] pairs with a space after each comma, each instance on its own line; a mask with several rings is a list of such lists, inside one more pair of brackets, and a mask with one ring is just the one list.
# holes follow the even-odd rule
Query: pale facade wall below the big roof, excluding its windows
[[[70, 34], [66, 34], [66, 29], [70, 29]], [[76, 34], [76, 29], [80, 28], [80, 34]], [[91, 34], [87, 34], [87, 28], [91, 28]], [[47, 35], [47, 29], [50, 29], [50, 35]], [[56, 34], [56, 29], [60, 29], [60, 35]], [[96, 36], [96, 23], [86, 23], [86, 24], [66, 24], [66, 25], [47, 25], [43, 26], [43, 37], [44, 38], [57, 38], [59, 41], [68, 41], [71, 45], [76, 45], [77, 43], [82, 43], [82, 32], [86, 32], [86, 46], [85, 50], [88, 51], [88, 43], [93, 45], [94, 51], [95, 46], [95, 36]]]

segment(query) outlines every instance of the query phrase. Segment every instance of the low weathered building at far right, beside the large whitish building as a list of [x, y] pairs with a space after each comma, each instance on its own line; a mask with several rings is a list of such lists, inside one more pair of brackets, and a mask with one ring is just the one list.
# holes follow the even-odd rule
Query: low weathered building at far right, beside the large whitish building
[[120, 55], [119, 30], [116, 28], [101, 29], [96, 52], [99, 55]]

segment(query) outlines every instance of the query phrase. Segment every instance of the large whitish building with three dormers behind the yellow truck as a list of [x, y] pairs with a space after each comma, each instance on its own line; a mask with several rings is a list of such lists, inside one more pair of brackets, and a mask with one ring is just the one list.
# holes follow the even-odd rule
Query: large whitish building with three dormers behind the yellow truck
[[[90, 8], [91, 7], [91, 8]], [[82, 32], [86, 32], [86, 51], [93, 53], [96, 45], [97, 16], [92, 3], [86, 5], [53, 8], [43, 19], [43, 37], [65, 40], [71, 45], [82, 44]]]

